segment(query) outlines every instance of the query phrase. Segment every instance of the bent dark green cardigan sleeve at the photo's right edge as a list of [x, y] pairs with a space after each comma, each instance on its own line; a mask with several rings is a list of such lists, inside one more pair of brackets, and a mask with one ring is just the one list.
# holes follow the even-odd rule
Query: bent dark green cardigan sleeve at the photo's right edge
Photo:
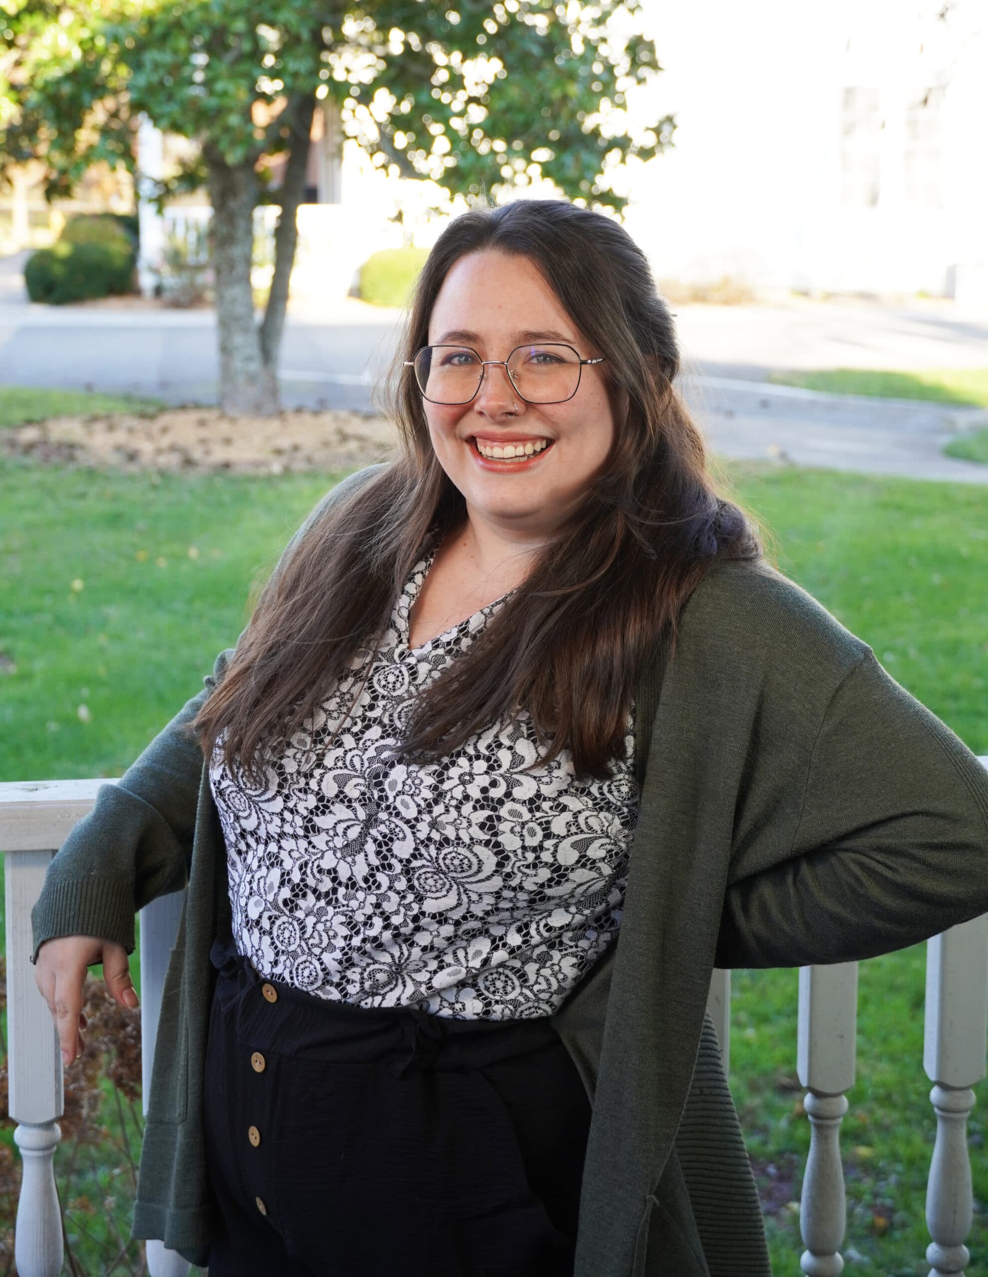
[[788, 853], [731, 865], [717, 967], [873, 958], [988, 913], [988, 770], [871, 649], [830, 697], [794, 801]]

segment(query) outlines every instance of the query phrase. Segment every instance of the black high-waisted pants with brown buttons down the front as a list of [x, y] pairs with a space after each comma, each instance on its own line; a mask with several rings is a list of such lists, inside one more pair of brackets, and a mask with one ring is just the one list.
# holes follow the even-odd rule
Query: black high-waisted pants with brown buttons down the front
[[545, 1019], [329, 1002], [228, 937], [211, 959], [209, 1277], [572, 1277], [590, 1103]]

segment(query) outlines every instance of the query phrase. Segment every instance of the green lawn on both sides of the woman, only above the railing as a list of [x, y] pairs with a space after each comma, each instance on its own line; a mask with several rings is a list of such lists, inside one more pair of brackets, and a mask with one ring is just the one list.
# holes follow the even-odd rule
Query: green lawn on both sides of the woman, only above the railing
[[[781, 570], [988, 752], [984, 490], [754, 462], [728, 474]], [[336, 478], [5, 460], [0, 775], [120, 775], [236, 641], [250, 582]]]

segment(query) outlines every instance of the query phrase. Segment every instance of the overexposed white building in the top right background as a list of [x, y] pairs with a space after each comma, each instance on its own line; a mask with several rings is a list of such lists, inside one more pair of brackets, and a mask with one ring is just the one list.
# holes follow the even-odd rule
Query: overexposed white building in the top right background
[[631, 175], [664, 278], [988, 301], [988, 0], [645, 0]]

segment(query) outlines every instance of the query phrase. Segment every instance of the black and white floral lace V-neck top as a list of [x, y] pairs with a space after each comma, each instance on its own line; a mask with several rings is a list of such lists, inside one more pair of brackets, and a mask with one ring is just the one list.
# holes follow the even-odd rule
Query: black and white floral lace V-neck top
[[[234, 939], [262, 976], [332, 1001], [454, 1019], [553, 1014], [620, 926], [637, 819], [634, 711], [610, 780], [536, 757], [527, 711], [431, 764], [388, 757], [417, 688], [474, 641], [503, 595], [421, 647], [415, 563], [359, 704], [350, 661], [314, 718], [250, 788], [217, 751]], [[221, 737], [222, 741], [222, 737]]]

